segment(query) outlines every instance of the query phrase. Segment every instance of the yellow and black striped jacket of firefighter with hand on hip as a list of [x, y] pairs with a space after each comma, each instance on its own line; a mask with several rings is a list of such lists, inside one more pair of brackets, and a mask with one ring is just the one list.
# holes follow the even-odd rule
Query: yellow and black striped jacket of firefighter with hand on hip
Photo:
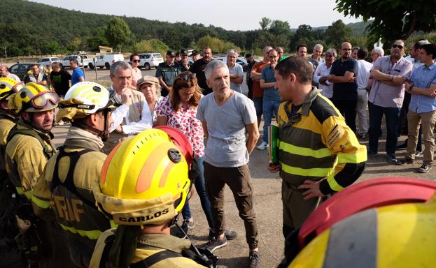
[[353, 184], [365, 169], [366, 147], [346, 126], [344, 117], [315, 87], [300, 109], [292, 103], [279, 107], [279, 163], [281, 178], [292, 186], [318, 181], [323, 194]]

